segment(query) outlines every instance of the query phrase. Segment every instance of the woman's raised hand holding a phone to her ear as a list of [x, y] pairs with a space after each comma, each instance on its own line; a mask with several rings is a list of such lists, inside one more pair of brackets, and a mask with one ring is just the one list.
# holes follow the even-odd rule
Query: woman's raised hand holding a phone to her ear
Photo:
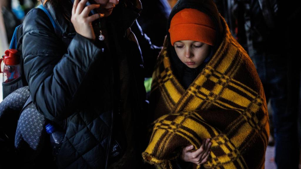
[[100, 5], [92, 4], [85, 7], [87, 1], [88, 0], [74, 1], [71, 22], [78, 34], [94, 40], [95, 33], [92, 27], [92, 22], [100, 17], [104, 17], [104, 14], [94, 14], [92, 16], [88, 16], [91, 10], [99, 8]]

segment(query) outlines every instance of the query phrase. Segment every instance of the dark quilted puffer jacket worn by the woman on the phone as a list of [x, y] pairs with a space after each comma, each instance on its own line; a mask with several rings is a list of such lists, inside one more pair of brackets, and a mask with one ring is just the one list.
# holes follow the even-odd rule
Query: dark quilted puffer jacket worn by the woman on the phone
[[[116, 121], [123, 113], [120, 105], [124, 104], [120, 100], [123, 82], [119, 78], [119, 60], [126, 58], [128, 63], [123, 66], [129, 78], [135, 136], [144, 130], [140, 120], [145, 112], [143, 81], [151, 74], [145, 69], [151, 71], [160, 49], [151, 45], [135, 22], [141, 7], [139, 0], [120, 1], [107, 17], [103, 26], [108, 30], [109, 45], [77, 34], [70, 22], [72, 2], [58, 2], [46, 3], [46, 8], [62, 35], [56, 33], [41, 9], [30, 11], [23, 23], [24, 72], [31, 97], [45, 118], [66, 130], [57, 156], [59, 168], [107, 168], [113, 162], [108, 158], [111, 142], [118, 140], [123, 150], [126, 144], [121, 123]], [[92, 25], [97, 35], [98, 21]], [[138, 45], [131, 26], [133, 32], [138, 32]], [[138, 141], [135, 150], [141, 153]]]

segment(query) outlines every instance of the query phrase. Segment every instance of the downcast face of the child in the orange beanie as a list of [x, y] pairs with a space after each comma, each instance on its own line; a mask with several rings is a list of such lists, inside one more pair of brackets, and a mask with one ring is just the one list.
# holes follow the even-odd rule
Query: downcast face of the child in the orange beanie
[[179, 59], [190, 68], [197, 68], [210, 52], [210, 45], [199, 41], [177, 41], [174, 44]]

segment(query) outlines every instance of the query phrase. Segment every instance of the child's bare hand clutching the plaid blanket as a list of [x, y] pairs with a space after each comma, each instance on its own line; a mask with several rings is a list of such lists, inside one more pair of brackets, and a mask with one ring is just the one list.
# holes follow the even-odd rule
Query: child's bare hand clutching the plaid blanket
[[199, 149], [191, 152], [193, 149], [193, 145], [184, 147], [182, 150], [181, 159], [183, 161], [192, 162], [194, 164], [200, 165], [208, 160], [209, 157], [209, 148], [212, 143], [210, 143], [210, 139], [203, 139], [202, 145]]

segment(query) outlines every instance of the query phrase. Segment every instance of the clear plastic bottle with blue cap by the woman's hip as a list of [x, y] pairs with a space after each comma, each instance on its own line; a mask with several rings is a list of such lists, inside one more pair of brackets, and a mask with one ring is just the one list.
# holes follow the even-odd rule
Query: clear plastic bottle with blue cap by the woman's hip
[[47, 124], [45, 128], [46, 132], [50, 135], [50, 143], [53, 148], [53, 155], [55, 160], [56, 156], [60, 152], [65, 133], [57, 130], [52, 124]]

